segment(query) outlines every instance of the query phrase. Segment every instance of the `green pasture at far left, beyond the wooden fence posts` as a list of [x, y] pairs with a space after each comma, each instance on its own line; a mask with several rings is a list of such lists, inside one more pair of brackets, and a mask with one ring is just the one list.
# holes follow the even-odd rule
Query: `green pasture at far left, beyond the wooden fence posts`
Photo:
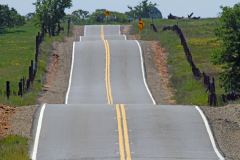
[[[23, 99], [13, 96], [7, 101], [5, 85], [6, 81], [10, 81], [11, 94], [16, 94], [20, 78], [28, 75], [28, 67], [34, 59], [37, 32], [37, 27], [32, 23], [27, 23], [0, 34], [0, 103], [11, 105], [32, 103], [35, 97], [33, 94], [28, 94]], [[27, 99], [26, 102], [24, 102], [25, 99]]]

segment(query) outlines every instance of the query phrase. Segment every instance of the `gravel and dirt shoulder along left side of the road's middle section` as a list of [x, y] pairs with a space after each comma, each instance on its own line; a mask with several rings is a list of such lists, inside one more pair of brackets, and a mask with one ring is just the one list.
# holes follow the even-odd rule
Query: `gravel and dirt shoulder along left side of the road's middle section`
[[66, 37], [63, 42], [53, 43], [46, 82], [43, 87], [43, 93], [38, 99], [40, 104], [64, 103], [71, 70], [73, 41], [79, 41], [83, 32], [84, 27], [75, 26], [73, 28], [73, 36]]

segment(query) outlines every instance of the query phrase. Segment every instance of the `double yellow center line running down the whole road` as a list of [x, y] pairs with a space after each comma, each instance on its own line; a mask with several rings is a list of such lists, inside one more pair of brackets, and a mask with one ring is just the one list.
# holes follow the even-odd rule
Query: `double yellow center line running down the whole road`
[[[101, 39], [104, 42], [104, 47], [106, 50], [106, 64], [105, 64], [105, 83], [107, 91], [107, 102], [108, 104], [113, 104], [113, 96], [110, 81], [110, 47], [107, 40], [104, 38], [104, 29], [101, 26]], [[131, 151], [129, 145], [128, 127], [127, 127], [127, 117], [125, 106], [123, 104], [116, 104], [116, 116], [118, 122], [118, 141], [119, 141], [119, 153], [120, 160], [131, 160]]]

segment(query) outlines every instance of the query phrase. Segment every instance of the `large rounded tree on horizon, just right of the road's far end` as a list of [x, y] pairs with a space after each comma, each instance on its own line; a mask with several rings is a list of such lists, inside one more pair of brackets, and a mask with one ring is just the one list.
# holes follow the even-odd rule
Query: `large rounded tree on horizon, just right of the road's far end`
[[[126, 14], [129, 17], [137, 18], [162, 18], [162, 13], [157, 9], [157, 4], [149, 2], [148, 0], [143, 0], [139, 5], [135, 7], [128, 6], [129, 12], [126, 12]], [[154, 15], [153, 15], [154, 14]]]

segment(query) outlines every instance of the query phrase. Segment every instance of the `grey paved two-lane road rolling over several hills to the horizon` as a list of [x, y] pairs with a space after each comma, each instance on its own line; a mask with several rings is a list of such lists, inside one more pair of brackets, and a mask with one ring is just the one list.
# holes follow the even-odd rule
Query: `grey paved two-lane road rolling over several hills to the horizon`
[[119, 26], [86, 26], [66, 104], [41, 108], [32, 158], [221, 159], [201, 111], [154, 105], [143, 70], [138, 42]]

